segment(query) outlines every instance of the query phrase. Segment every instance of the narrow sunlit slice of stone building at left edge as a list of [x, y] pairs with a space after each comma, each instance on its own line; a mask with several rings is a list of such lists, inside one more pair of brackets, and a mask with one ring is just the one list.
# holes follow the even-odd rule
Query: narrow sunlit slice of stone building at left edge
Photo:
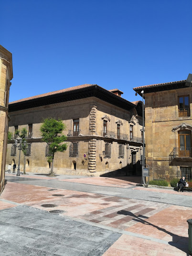
[[0, 45], [0, 193], [4, 188], [8, 136], [8, 104], [12, 71], [12, 54]]

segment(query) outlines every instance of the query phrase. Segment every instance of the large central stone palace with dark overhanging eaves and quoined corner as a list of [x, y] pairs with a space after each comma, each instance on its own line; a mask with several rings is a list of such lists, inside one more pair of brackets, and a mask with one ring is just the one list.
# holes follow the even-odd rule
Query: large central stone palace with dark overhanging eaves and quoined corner
[[[49, 146], [42, 142], [40, 127], [43, 118], [54, 117], [64, 121], [68, 136], [67, 150], [55, 155], [56, 173], [98, 176], [123, 169], [141, 174], [142, 102], [131, 103], [121, 94], [86, 84], [11, 102], [9, 130], [13, 135], [15, 129], [28, 130], [26, 171], [49, 171]], [[7, 164], [18, 165], [13, 143], [8, 145]], [[21, 171], [22, 164], [21, 153]]]

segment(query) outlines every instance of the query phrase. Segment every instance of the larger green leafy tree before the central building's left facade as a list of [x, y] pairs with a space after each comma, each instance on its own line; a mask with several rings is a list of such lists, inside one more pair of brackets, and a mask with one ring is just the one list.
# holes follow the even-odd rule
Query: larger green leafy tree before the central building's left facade
[[53, 163], [55, 153], [64, 152], [67, 149], [67, 144], [63, 143], [67, 137], [62, 134], [65, 129], [66, 125], [61, 119], [56, 120], [55, 118], [51, 117], [45, 118], [40, 128], [42, 140], [49, 144], [49, 152], [51, 154], [51, 156], [48, 157], [48, 162], [52, 162], [49, 176], [54, 176]]

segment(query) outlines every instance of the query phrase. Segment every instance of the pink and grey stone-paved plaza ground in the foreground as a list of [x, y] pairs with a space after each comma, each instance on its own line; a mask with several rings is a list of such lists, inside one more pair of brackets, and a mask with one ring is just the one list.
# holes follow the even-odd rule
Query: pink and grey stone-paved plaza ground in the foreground
[[[104, 177], [6, 174], [0, 255], [187, 256], [191, 192]], [[53, 214], [50, 211], [62, 211]]]

